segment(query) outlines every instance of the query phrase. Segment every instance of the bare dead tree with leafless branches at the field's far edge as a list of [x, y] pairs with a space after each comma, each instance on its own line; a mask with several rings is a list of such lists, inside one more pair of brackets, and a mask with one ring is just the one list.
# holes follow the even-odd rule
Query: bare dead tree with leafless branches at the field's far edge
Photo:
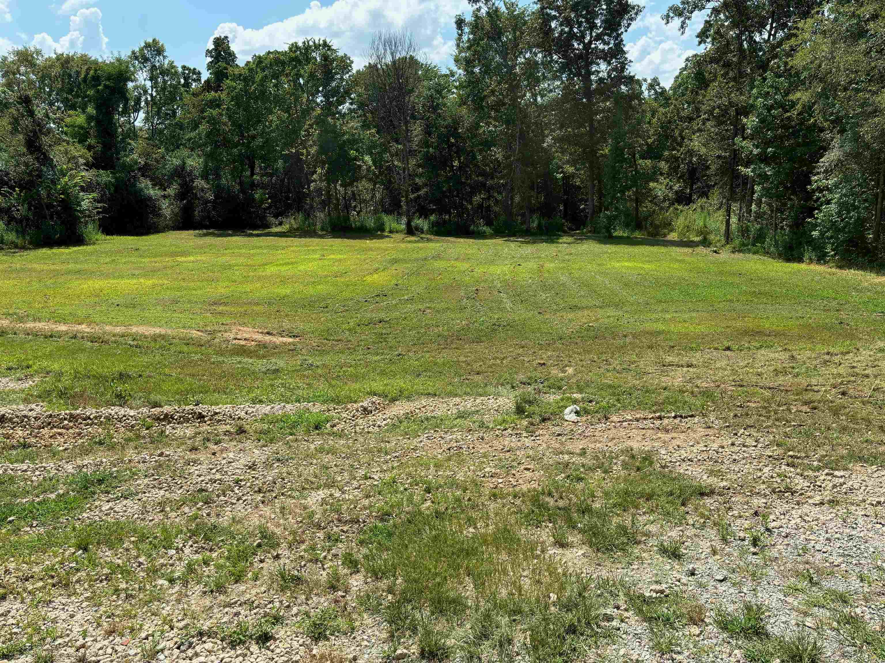
[[396, 150], [396, 179], [403, 196], [405, 232], [412, 225], [412, 116], [418, 101], [421, 52], [414, 36], [403, 31], [375, 33], [366, 52], [366, 72], [375, 95], [378, 127]]

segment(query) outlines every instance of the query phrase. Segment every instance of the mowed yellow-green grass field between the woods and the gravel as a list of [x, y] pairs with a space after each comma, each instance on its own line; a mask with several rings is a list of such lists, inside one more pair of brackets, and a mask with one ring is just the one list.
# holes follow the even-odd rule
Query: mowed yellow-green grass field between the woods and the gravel
[[[885, 278], [665, 241], [113, 237], [0, 253], [0, 317], [205, 336], [0, 325], [0, 376], [42, 377], [0, 400], [349, 402], [529, 388], [587, 393], [606, 415], [696, 411], [735, 390], [776, 398], [771, 384], [797, 390], [791, 402], [814, 400], [809, 385], [850, 383], [851, 407], [877, 408], [883, 312]], [[223, 333], [236, 325], [296, 340], [234, 345]]]

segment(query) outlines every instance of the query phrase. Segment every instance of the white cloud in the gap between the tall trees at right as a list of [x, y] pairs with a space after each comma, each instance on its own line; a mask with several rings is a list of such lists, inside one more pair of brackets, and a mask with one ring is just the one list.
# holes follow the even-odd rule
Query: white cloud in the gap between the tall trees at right
[[698, 52], [695, 34], [704, 21], [704, 14], [692, 19], [685, 34], [679, 32], [679, 21], [666, 25], [660, 14], [643, 11], [630, 33], [635, 41], [627, 43], [627, 56], [633, 60], [633, 72], [640, 78], [657, 76], [669, 86], [687, 57]]

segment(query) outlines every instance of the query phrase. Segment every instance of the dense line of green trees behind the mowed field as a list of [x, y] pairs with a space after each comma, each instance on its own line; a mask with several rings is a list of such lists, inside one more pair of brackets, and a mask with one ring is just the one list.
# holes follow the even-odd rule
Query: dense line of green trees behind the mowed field
[[630, 72], [629, 0], [472, 0], [454, 67], [410, 34], [365, 65], [309, 39], [200, 70], [129, 55], [0, 58], [0, 243], [250, 228], [584, 230], [876, 263], [881, 0], [680, 0], [703, 47], [669, 88]]

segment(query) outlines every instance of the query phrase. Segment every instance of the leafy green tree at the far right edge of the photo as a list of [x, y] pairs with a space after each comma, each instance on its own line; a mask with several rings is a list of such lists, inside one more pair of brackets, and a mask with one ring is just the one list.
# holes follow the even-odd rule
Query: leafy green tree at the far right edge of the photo
[[796, 97], [827, 134], [815, 233], [832, 256], [880, 255], [885, 199], [885, 4], [824, 5], [793, 42]]

